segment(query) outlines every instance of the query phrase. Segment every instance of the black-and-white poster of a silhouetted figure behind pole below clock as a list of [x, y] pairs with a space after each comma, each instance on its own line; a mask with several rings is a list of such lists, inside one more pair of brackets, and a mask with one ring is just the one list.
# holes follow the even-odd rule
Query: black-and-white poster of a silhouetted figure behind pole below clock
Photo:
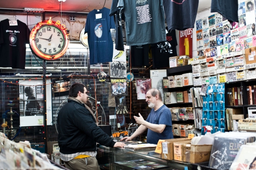
[[42, 126], [44, 107], [47, 112], [47, 125], [52, 125], [52, 85], [46, 82], [46, 106], [43, 105], [43, 80], [31, 79], [19, 82], [20, 126]]

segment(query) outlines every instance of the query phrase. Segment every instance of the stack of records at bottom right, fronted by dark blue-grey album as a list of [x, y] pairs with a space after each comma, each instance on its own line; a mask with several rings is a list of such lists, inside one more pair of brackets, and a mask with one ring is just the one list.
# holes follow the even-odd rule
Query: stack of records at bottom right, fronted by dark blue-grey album
[[255, 142], [256, 133], [220, 133], [215, 136], [209, 167], [229, 169], [242, 144]]

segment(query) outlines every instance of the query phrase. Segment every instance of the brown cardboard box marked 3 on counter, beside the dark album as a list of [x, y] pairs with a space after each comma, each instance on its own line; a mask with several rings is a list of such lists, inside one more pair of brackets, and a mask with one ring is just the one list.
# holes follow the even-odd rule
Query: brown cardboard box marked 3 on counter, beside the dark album
[[211, 156], [212, 145], [190, 145], [186, 147], [186, 162], [201, 163], [209, 162]]

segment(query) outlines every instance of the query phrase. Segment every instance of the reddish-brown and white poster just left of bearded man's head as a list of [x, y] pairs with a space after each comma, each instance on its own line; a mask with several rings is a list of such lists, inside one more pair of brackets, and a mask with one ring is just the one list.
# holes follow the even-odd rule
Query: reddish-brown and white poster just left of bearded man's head
[[146, 99], [146, 93], [151, 88], [151, 79], [136, 79], [137, 99]]

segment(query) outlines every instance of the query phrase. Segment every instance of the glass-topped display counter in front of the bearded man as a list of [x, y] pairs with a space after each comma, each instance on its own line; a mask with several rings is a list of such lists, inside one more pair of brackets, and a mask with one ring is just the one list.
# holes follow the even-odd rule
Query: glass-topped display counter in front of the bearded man
[[[140, 169], [138, 168], [140, 166], [151, 166], [154, 167], [154, 169], [164, 168], [166, 170], [184, 170], [185, 167], [187, 167], [188, 170], [192, 170], [192, 165], [190, 163], [162, 159], [161, 154], [155, 153], [154, 150], [155, 148], [139, 150], [110, 148], [109, 156], [111, 170], [133, 170]], [[150, 169], [150, 167], [145, 169]]]

